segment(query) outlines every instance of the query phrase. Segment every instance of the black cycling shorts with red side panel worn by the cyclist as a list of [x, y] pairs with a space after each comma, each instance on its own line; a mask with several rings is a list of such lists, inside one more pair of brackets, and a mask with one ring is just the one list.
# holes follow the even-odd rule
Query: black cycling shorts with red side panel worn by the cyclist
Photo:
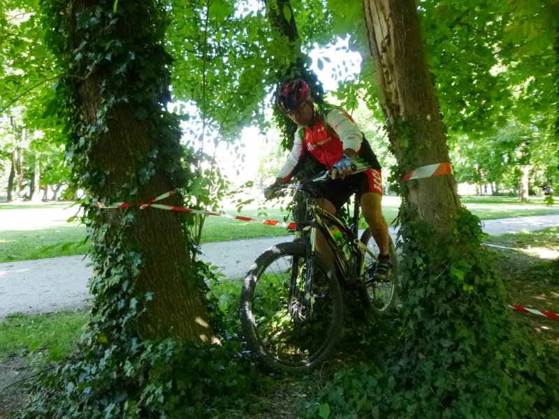
[[382, 196], [382, 173], [378, 169], [364, 170], [345, 179], [324, 182], [319, 191], [320, 198], [329, 200], [336, 210], [340, 210], [354, 193], [358, 197], [368, 192]]

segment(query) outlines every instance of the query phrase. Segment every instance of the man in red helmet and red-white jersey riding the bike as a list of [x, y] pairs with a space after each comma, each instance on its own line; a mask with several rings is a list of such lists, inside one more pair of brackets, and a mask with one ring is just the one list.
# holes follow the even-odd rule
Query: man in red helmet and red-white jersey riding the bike
[[[373, 237], [379, 246], [379, 260], [372, 279], [384, 281], [391, 275], [389, 256], [389, 230], [382, 215], [382, 175], [377, 156], [354, 120], [342, 108], [314, 104], [304, 80], [296, 79], [280, 87], [277, 107], [299, 128], [295, 133], [293, 148], [287, 156], [275, 183], [264, 190], [267, 199], [296, 174], [305, 156], [317, 159], [332, 170], [335, 182], [321, 184], [321, 196], [317, 204], [325, 211], [335, 214], [347, 202], [352, 191], [358, 191], [361, 210]], [[365, 160], [370, 169], [352, 175], [354, 159]], [[317, 247], [321, 253], [328, 249], [324, 237]], [[331, 260], [331, 258], [327, 258]]]

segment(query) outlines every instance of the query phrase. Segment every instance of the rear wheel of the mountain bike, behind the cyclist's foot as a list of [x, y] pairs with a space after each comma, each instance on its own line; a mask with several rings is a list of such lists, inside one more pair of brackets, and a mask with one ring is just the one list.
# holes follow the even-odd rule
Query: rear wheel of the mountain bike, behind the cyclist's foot
[[[367, 228], [363, 232], [363, 235], [361, 235], [361, 243], [365, 244], [370, 251], [375, 254], [374, 258], [368, 253], [365, 255], [366, 280], [369, 279], [369, 277], [372, 277], [372, 274], [375, 273], [377, 257], [379, 255], [379, 246], [375, 241], [375, 237], [372, 237], [370, 228]], [[390, 236], [389, 255], [392, 263], [392, 273], [390, 279], [388, 281], [374, 282], [363, 290], [363, 300], [365, 300], [366, 304], [370, 305], [371, 309], [380, 316], [391, 314], [398, 297], [398, 259], [396, 258], [394, 243], [392, 242], [392, 238]]]

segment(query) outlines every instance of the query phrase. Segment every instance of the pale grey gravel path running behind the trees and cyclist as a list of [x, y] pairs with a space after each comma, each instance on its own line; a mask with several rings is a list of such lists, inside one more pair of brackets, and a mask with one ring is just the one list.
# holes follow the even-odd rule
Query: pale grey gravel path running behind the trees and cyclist
[[[484, 221], [489, 235], [541, 230], [559, 226], [559, 215], [528, 216]], [[391, 230], [395, 238], [395, 231]], [[245, 276], [260, 253], [289, 237], [237, 240], [204, 244], [203, 259], [220, 267], [226, 278]], [[0, 263], [0, 319], [12, 313], [41, 313], [78, 309], [87, 302], [87, 279], [91, 275], [84, 256], [64, 256]]]

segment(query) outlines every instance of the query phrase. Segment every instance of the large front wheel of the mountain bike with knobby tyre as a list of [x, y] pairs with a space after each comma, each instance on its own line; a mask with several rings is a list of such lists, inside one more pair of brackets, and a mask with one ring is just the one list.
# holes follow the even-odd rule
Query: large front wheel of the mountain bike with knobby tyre
[[277, 244], [256, 259], [241, 293], [247, 344], [268, 367], [305, 372], [331, 352], [343, 321], [335, 273], [318, 253], [310, 295], [305, 295], [307, 244]]

